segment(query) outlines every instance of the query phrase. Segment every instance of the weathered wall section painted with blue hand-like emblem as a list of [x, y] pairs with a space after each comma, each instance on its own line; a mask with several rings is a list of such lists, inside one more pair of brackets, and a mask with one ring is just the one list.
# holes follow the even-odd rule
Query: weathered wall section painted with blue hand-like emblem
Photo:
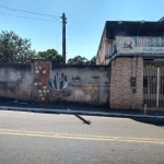
[[48, 82], [50, 102], [108, 104], [109, 67], [52, 66]]

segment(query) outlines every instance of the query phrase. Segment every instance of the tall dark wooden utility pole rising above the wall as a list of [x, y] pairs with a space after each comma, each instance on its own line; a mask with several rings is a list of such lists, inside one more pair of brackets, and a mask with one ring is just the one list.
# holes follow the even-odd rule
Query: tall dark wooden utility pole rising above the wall
[[61, 16], [62, 19], [62, 65], [66, 65], [66, 15], [65, 13]]

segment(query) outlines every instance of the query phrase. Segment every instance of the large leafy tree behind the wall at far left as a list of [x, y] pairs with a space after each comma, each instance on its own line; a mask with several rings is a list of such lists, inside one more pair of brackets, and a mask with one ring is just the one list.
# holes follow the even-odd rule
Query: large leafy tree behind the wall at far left
[[31, 49], [31, 39], [22, 38], [14, 32], [2, 31], [0, 34], [0, 63], [27, 63], [36, 58]]

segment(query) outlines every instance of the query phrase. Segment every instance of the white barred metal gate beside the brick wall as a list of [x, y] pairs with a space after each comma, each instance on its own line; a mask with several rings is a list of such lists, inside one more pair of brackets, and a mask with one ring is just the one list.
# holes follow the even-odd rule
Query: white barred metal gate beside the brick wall
[[144, 65], [143, 105], [164, 107], [164, 65]]

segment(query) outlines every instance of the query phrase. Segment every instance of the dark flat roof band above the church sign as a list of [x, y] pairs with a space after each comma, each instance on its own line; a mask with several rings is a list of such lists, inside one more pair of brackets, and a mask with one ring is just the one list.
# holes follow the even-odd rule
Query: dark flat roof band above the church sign
[[115, 36], [164, 36], [164, 22], [106, 21], [106, 38]]

